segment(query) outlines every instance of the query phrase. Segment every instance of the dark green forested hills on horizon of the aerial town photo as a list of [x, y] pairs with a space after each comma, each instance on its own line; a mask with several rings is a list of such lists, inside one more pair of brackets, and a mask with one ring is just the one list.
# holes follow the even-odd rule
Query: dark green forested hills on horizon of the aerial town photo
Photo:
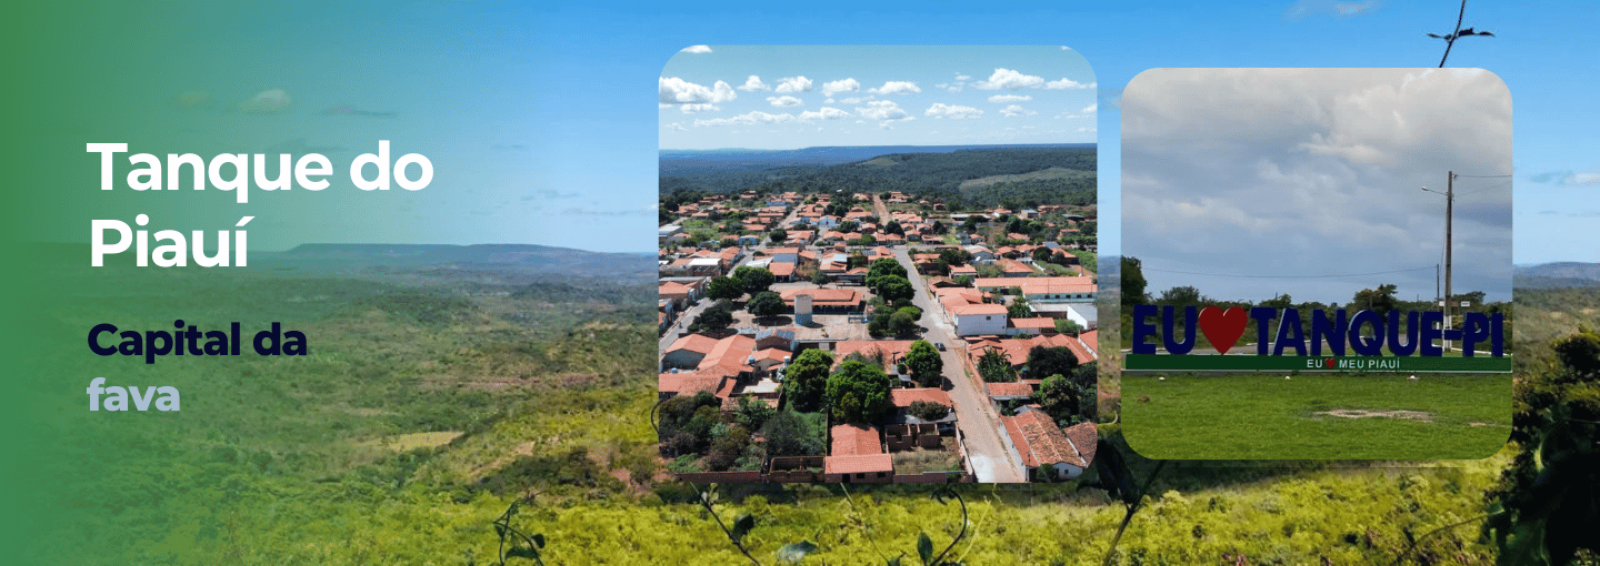
[[[898, 152], [840, 165], [790, 165], [752, 171], [722, 157], [726, 166], [688, 168], [682, 163], [662, 174], [661, 193], [736, 190], [856, 192], [899, 190], [938, 198], [950, 209], [998, 206], [1093, 205], [1096, 149], [1090, 144], [1048, 147], [962, 149], [954, 152]], [[662, 166], [662, 171], [669, 171]]]

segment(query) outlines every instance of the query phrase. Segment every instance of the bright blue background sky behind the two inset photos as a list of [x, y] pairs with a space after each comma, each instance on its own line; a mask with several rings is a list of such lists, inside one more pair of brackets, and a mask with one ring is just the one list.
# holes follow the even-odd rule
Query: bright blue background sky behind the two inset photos
[[[358, 200], [328, 190], [325, 201], [296, 201], [301, 222], [317, 229], [253, 224], [251, 241], [261, 249], [302, 238], [650, 251], [662, 142], [659, 78], [685, 46], [1064, 45], [1088, 61], [1098, 83], [1104, 253], [1120, 251], [1117, 104], [1134, 75], [1152, 67], [1437, 66], [1445, 45], [1424, 34], [1450, 32], [1459, 10], [1450, 0], [155, 6], [117, 16], [133, 19], [131, 42], [163, 45], [163, 59], [146, 64], [171, 77], [170, 91], [149, 93], [152, 101], [203, 90], [234, 104], [283, 88], [294, 96], [293, 110], [229, 115], [229, 139], [248, 139], [250, 150], [298, 138], [366, 150], [387, 136], [397, 149], [434, 160], [434, 185], [419, 193]], [[1494, 72], [1512, 96], [1514, 261], [1600, 261], [1600, 246], [1589, 245], [1600, 221], [1600, 109], [1589, 85], [1600, 74], [1600, 10], [1586, 2], [1474, 2], [1466, 26], [1498, 37], [1461, 40], [1450, 64]], [[765, 72], [722, 80], [738, 86], [749, 74], [789, 77], [773, 69], [770, 80]], [[942, 72], [987, 77], [966, 66]], [[829, 69], [806, 77], [837, 78]], [[856, 78], [864, 88], [893, 80]], [[734, 102], [765, 104], [765, 96], [739, 91]], [[334, 106], [397, 115], [318, 114]], [[950, 123], [925, 109], [915, 107], [914, 123]], [[72, 230], [69, 241], [80, 238]]]

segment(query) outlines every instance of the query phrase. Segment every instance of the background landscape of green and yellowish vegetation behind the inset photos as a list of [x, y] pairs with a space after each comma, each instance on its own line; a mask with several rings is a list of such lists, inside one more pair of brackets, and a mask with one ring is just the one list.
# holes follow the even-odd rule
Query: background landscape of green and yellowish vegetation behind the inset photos
[[[648, 424], [648, 291], [570, 283], [597, 289], [590, 301], [558, 286], [467, 294], [370, 275], [186, 270], [118, 273], [126, 285], [107, 288], [102, 275], [35, 275], [74, 301], [27, 321], [45, 347], [14, 376], [46, 405], [16, 430], [40, 440], [18, 454], [37, 488], [14, 500], [42, 532], [18, 563], [488, 564], [504, 553], [498, 520], [539, 534], [549, 564], [747, 561], [696, 486], [666, 481]], [[1570, 337], [1594, 325], [1600, 301], [1549, 293], [1518, 291], [1518, 355], [1534, 363], [1518, 376], [1517, 444], [1478, 462], [1168, 462], [1134, 497], [1142, 507], [1114, 563], [1547, 563], [1568, 550], [1594, 563], [1562, 528], [1594, 524], [1582, 491], [1594, 467], [1571, 465], [1590, 457], [1576, 448], [1594, 441], [1582, 427], [1594, 413], [1581, 411], [1600, 398], [1586, 373], [1600, 339]], [[174, 313], [250, 329], [277, 320], [306, 331], [312, 355], [147, 366], [83, 350], [88, 325], [155, 329]], [[1549, 337], [1525, 349], [1528, 331]], [[80, 377], [98, 373], [181, 387], [184, 409], [82, 411]], [[1115, 373], [1102, 376], [1102, 390], [1115, 387]], [[1142, 484], [1155, 462], [1125, 449], [1106, 406], [1102, 454], [1118, 452]], [[770, 451], [824, 449], [819, 413], [731, 419], [765, 432]], [[958, 486], [968, 521], [915, 486], [851, 486], [848, 497], [840, 486], [723, 486], [712, 513], [730, 526], [749, 513], [739, 540], [762, 563], [800, 540], [816, 545], [806, 563], [915, 561], [923, 536], [938, 553], [965, 529], [949, 558], [966, 564], [1098, 564], [1126, 516], [1104, 489], [1115, 483], [1091, 470], [1077, 483]]]

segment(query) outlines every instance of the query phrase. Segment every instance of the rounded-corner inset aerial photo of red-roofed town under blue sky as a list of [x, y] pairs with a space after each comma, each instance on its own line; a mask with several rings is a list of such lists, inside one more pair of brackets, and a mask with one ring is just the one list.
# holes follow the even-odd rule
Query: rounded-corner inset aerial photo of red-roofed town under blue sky
[[661, 457], [715, 483], [1077, 478], [1106, 397], [1093, 72], [837, 50], [662, 70]]

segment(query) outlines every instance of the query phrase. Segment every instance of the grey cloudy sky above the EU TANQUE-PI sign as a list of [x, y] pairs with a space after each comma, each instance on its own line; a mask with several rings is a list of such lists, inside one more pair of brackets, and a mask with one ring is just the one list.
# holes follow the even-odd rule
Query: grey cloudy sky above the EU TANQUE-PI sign
[[[1152, 294], [1510, 297], [1512, 102], [1474, 69], [1152, 69], [1122, 96], [1122, 249]], [[1427, 187], [1427, 192], [1422, 190]]]

